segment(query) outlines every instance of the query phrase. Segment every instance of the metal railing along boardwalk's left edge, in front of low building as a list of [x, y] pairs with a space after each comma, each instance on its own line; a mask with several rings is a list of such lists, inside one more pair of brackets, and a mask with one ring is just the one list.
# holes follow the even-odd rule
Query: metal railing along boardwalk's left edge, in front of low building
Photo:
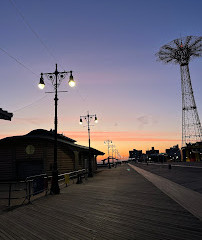
[[[82, 183], [83, 178], [87, 178], [87, 172], [85, 169], [68, 172], [58, 175], [58, 181], [60, 187], [67, 187], [70, 185], [70, 181], [77, 179], [77, 184]], [[36, 198], [39, 194], [48, 194], [51, 185], [52, 176], [47, 174], [40, 174], [30, 176], [25, 181], [19, 182], [0, 182], [0, 201], [7, 200], [8, 207], [11, 207], [11, 200], [15, 200], [13, 205], [22, 205], [27, 200], [31, 202], [31, 198]], [[2, 196], [1, 196], [2, 195]], [[22, 202], [23, 199], [23, 202]], [[5, 204], [4, 204], [5, 205]]]

